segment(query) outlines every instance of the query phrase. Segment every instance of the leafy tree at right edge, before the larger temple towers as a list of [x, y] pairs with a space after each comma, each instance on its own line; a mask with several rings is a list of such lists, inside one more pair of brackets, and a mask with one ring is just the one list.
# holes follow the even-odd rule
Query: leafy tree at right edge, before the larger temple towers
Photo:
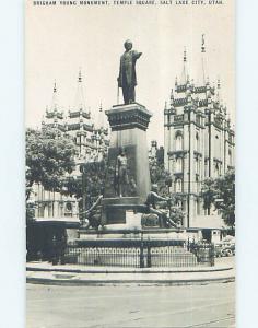
[[203, 207], [211, 204], [220, 210], [226, 225], [235, 226], [235, 172], [230, 169], [224, 176], [207, 179], [202, 187]]

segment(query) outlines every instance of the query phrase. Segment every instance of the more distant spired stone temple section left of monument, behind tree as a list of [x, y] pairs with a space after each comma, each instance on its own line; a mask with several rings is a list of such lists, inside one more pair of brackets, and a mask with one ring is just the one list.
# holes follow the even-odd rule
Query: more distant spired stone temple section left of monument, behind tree
[[[97, 118], [92, 119], [86, 109], [81, 71], [79, 72], [75, 103], [67, 114], [58, 104], [58, 90], [55, 83], [51, 106], [46, 108], [42, 128], [54, 127], [61, 133], [69, 134], [77, 145], [75, 169], [67, 176], [68, 179], [82, 179], [83, 164], [98, 162], [107, 152], [109, 144], [107, 124], [102, 105]], [[74, 197], [63, 196], [52, 190], [45, 190], [42, 185], [34, 186], [36, 218], [78, 216], [79, 204]]]

